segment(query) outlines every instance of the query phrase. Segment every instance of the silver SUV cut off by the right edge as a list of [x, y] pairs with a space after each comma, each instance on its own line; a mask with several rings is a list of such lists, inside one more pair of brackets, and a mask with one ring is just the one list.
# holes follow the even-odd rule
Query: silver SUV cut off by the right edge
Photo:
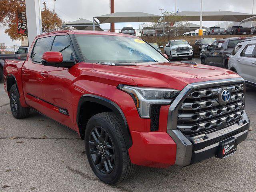
[[256, 39], [236, 45], [228, 60], [228, 68], [244, 78], [246, 85], [256, 88]]

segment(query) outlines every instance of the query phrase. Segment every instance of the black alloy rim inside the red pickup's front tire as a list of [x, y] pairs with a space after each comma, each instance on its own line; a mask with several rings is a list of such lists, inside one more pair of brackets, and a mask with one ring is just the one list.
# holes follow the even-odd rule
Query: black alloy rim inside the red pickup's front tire
[[115, 152], [112, 139], [106, 130], [95, 126], [89, 137], [90, 157], [94, 165], [104, 174], [112, 172], [115, 165]]

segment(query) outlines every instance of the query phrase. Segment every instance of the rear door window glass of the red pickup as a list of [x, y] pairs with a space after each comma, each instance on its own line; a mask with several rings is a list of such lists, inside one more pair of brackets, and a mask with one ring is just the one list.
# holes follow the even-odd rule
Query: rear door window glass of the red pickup
[[33, 51], [31, 53], [31, 58], [34, 62], [41, 63], [42, 55], [46, 51], [50, 39], [51, 37], [45, 37], [36, 40]]

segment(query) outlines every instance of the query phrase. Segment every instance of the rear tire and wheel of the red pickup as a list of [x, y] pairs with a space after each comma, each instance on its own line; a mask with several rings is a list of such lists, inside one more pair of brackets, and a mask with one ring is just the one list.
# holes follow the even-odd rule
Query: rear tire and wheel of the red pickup
[[30, 108], [24, 108], [20, 105], [20, 94], [14, 84], [10, 89], [10, 107], [12, 115], [16, 119], [23, 119], [28, 117]]

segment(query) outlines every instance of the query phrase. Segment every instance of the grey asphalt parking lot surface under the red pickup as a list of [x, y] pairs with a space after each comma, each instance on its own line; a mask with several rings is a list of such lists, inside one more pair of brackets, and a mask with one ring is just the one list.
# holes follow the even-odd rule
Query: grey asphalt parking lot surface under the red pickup
[[246, 112], [252, 130], [234, 155], [183, 168], [139, 167], [132, 178], [116, 186], [96, 178], [84, 142], [75, 132], [32, 110], [28, 118], [17, 120], [8, 102], [0, 83], [1, 192], [256, 191], [256, 90], [246, 90]]

